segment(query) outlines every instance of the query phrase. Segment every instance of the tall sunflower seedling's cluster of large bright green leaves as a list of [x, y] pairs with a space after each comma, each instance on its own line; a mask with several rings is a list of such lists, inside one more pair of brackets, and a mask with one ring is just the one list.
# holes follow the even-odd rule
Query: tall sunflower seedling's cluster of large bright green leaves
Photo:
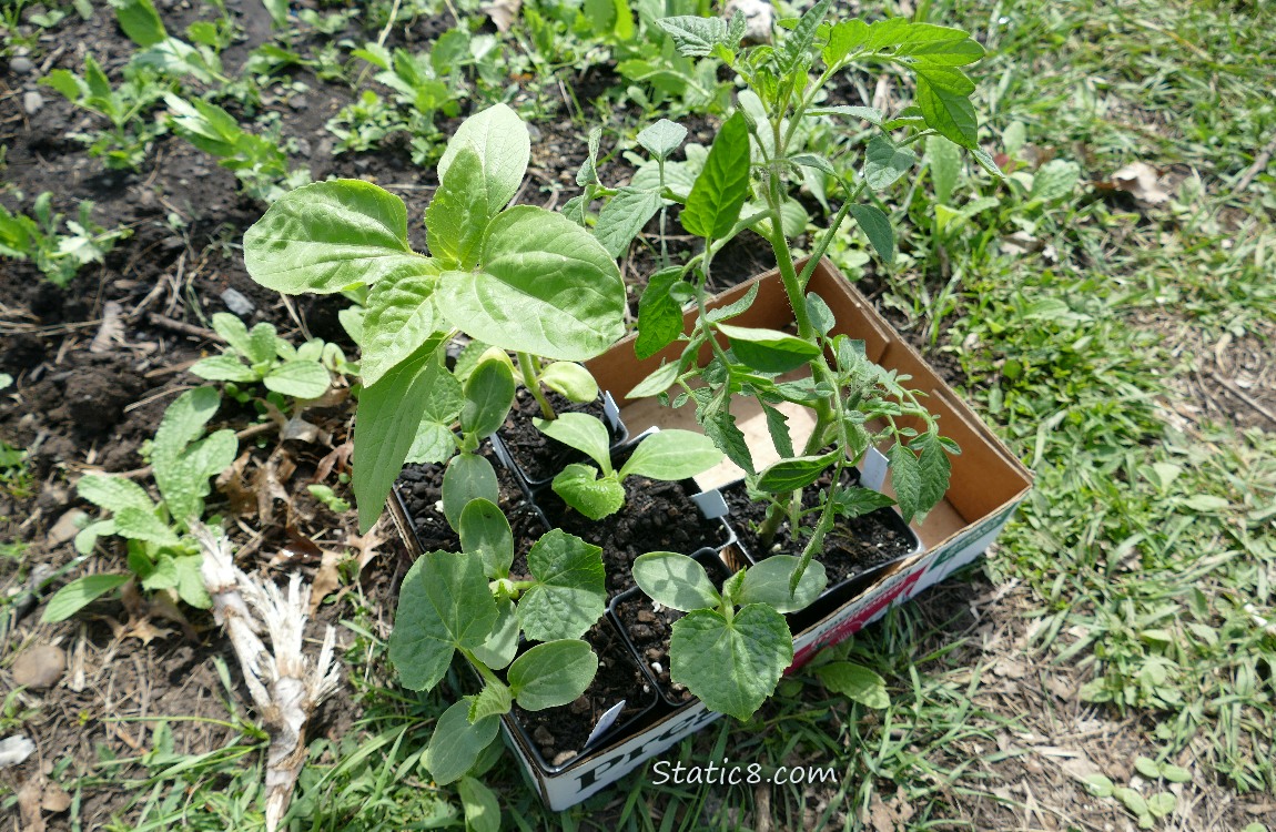
[[297, 189], [244, 236], [249, 274], [269, 288], [371, 286], [353, 462], [365, 531], [416, 442], [415, 415], [435, 397], [438, 355], [458, 332], [555, 361], [588, 360], [624, 332], [624, 282], [606, 250], [561, 214], [507, 207], [530, 156], [527, 126], [504, 105], [461, 125], [425, 212], [430, 256], [408, 245], [403, 202], [357, 180]]

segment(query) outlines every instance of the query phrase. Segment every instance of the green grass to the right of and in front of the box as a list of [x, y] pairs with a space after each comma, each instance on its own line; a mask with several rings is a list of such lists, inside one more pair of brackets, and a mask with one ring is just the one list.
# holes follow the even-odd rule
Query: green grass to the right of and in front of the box
[[[1185, 764], [1191, 789], [1211, 800], [1276, 792], [1276, 637], [1256, 619], [1276, 618], [1276, 433], [1202, 415], [1191, 384], [1221, 339], [1254, 338], [1271, 355], [1276, 336], [1276, 181], [1259, 172], [1236, 188], [1276, 131], [1266, 93], [1276, 34], [1254, 4], [919, 5], [986, 42], [979, 110], [994, 143], [1018, 121], [1030, 144], [1082, 172], [1072, 198], [1028, 208], [971, 170], [965, 193], [1000, 204], [944, 240], [923, 221], [926, 188], [892, 205], [911, 226], [901, 236], [912, 256], [886, 276], [884, 300], [960, 362], [967, 396], [1037, 475], [1000, 544], [966, 576], [1005, 591], [981, 609], [1007, 641], [988, 650], [970, 598], [910, 605], [847, 648], [888, 680], [886, 709], [786, 683], [754, 722], [720, 721], [662, 755], [828, 764], [840, 772], [829, 789], [655, 785], [643, 768], [554, 814], [508, 755], [493, 754], [486, 780], [507, 828], [979, 828], [981, 812], [1027, 823], [1040, 801], [1008, 789], [1032, 755], [1023, 736], [1079, 716]], [[1094, 185], [1134, 161], [1168, 174], [1168, 204]], [[1022, 230], [1036, 250], [1005, 250], [1002, 237]], [[860, 271], [854, 244], [840, 255]], [[345, 739], [313, 741], [293, 828], [461, 826], [454, 790], [434, 787], [420, 763], [441, 703], [382, 678], [367, 615], [351, 671], [364, 716]], [[1031, 670], [1016, 681], [1020, 664]], [[1016, 695], [1041, 679], [1074, 680], [1071, 701], [1020, 707], [1027, 699]], [[176, 754], [163, 736], [135, 761], [147, 771], [130, 781], [138, 828], [262, 823], [260, 740], [248, 729], [202, 755]], [[102, 761], [82, 789], [119, 762]], [[1059, 798], [1064, 809], [1091, 800], [1131, 817], [1115, 798], [1067, 778], [1062, 789], [1076, 791]], [[1067, 813], [1053, 819], [1085, 828]], [[1235, 828], [1258, 828], [1244, 822]]]

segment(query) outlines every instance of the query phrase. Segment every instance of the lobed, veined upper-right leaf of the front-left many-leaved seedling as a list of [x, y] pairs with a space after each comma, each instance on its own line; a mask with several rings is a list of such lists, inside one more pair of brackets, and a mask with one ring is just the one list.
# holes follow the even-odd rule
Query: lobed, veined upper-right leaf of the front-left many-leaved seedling
[[527, 553], [536, 579], [518, 600], [523, 634], [537, 642], [579, 638], [607, 604], [602, 549], [555, 528]]

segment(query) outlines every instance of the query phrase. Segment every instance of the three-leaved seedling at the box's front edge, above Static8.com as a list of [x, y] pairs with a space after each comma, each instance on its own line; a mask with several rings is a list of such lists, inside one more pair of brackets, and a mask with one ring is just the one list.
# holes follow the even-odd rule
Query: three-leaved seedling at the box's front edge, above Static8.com
[[639, 555], [634, 582], [657, 604], [686, 613], [674, 621], [670, 678], [712, 711], [752, 717], [794, 660], [782, 614], [809, 605], [828, 583], [824, 568], [813, 561], [790, 591], [796, 567], [798, 558], [776, 555], [735, 573], [720, 592], [704, 567], [686, 555]]

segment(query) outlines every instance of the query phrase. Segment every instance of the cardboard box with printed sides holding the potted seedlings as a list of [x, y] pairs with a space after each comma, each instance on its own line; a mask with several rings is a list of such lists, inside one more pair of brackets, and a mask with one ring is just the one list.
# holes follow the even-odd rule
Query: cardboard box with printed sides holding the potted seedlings
[[[758, 276], [718, 295], [709, 306], [734, 302], [754, 285], [758, 286], [757, 300], [745, 314], [732, 319], [731, 323], [769, 329], [791, 328], [792, 311], [776, 272]], [[815, 268], [806, 288], [818, 293], [832, 309], [837, 319], [836, 333], [863, 339], [870, 360], [897, 370], [901, 375], [911, 376], [909, 385], [929, 396], [925, 402], [931, 412], [939, 415], [942, 433], [952, 436], [961, 445], [962, 453], [952, 458], [952, 481], [944, 500], [926, 516], [924, 523], [914, 523], [914, 530], [925, 546], [924, 551], [896, 564], [861, 595], [796, 633], [794, 637], [796, 657], [790, 671], [800, 667], [820, 648], [843, 641], [884, 615], [891, 606], [907, 602], [926, 587], [979, 556], [997, 540], [1016, 505], [1023, 500], [1032, 485], [1031, 472], [828, 260]], [[689, 332], [693, 322], [694, 314], [688, 313], [684, 331]], [[611, 390], [616, 397], [621, 419], [632, 434], [637, 435], [653, 425], [699, 429], [692, 406], [672, 410], [660, 407], [651, 399], [632, 402], [623, 398], [638, 382], [655, 371], [662, 360], [676, 360], [681, 348], [681, 343], [675, 343], [660, 355], [639, 361], [634, 356], [633, 338], [627, 338], [588, 362], [598, 385]], [[708, 357], [709, 348], [706, 346], [701, 359], [707, 361]], [[758, 439], [750, 442], [750, 448], [754, 462], [760, 470], [773, 462], [776, 456], [766, 435], [760, 410], [750, 407], [752, 405], [753, 402], [748, 399], [735, 399], [731, 412], [736, 416], [736, 424], [745, 436]], [[813, 419], [809, 411], [798, 406], [787, 408], [787, 412], [790, 430], [798, 444], [804, 440], [803, 426], [809, 435]], [[732, 468], [734, 466], [726, 463], [697, 480], [702, 487], [716, 487], [740, 476], [740, 471]], [[880, 459], [870, 457], [863, 468], [866, 484], [882, 481]], [[889, 491], [889, 484], [886, 482], [884, 486]], [[530, 749], [521, 747], [516, 739], [517, 734], [508, 724], [504, 726], [504, 734], [507, 743], [519, 758], [528, 782], [549, 808], [560, 810], [596, 794], [720, 716], [706, 709], [699, 702], [692, 703], [667, 713], [641, 735], [619, 738], [583, 754], [555, 775], [540, 771], [531, 762], [533, 758]]]

